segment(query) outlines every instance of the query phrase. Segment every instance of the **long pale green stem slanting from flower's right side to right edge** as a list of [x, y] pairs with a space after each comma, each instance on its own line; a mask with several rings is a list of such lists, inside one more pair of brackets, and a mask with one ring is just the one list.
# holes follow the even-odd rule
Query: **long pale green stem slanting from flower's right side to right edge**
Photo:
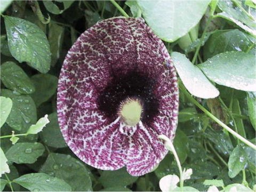
[[216, 123], [218, 123], [220, 126], [222, 126], [224, 129], [226, 129], [229, 133], [233, 134], [234, 137], [238, 138], [239, 140], [241, 140], [242, 142], [244, 142], [246, 145], [250, 146], [251, 148], [253, 148], [254, 150], [256, 150], [256, 146], [251, 143], [250, 141], [248, 141], [247, 139], [243, 138], [241, 135], [239, 135], [237, 132], [233, 131], [230, 127], [228, 127], [225, 123], [223, 123], [222, 121], [220, 121], [220, 119], [218, 119], [217, 117], [215, 117], [214, 115], [212, 115], [210, 113], [210, 111], [208, 111], [207, 109], [205, 109], [200, 103], [198, 103], [186, 90], [185, 86], [180, 84], [180, 89], [183, 91], [183, 93], [187, 96], [187, 98], [194, 103], [199, 109], [201, 109], [207, 116], [209, 116], [213, 121], [215, 121]]

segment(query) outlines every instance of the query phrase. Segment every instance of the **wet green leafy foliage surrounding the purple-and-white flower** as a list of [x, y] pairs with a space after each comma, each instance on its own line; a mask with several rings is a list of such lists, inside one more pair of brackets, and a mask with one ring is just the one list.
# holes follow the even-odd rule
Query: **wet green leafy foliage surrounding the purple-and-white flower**
[[[142, 177], [132, 177], [125, 169], [94, 169], [70, 151], [60, 133], [56, 91], [67, 51], [97, 21], [122, 14], [146, 20], [165, 42], [178, 71], [183, 89], [174, 147], [182, 167], [193, 169], [185, 186], [194, 188], [185, 190], [216, 186], [229, 191], [235, 186], [251, 191], [255, 149], [209, 114], [255, 143], [255, 4], [116, 4], [1, 1], [1, 191], [157, 191], [162, 177], [179, 175], [171, 153]], [[196, 107], [184, 86], [209, 114]]]

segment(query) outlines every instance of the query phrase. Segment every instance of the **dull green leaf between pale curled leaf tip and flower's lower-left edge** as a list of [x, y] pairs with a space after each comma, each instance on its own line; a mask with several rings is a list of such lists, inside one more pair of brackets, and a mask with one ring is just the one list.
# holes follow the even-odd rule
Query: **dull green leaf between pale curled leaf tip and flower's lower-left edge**
[[50, 147], [62, 148], [67, 147], [65, 140], [60, 132], [57, 112], [49, 115], [50, 123], [46, 125], [40, 137], [43, 142]]

